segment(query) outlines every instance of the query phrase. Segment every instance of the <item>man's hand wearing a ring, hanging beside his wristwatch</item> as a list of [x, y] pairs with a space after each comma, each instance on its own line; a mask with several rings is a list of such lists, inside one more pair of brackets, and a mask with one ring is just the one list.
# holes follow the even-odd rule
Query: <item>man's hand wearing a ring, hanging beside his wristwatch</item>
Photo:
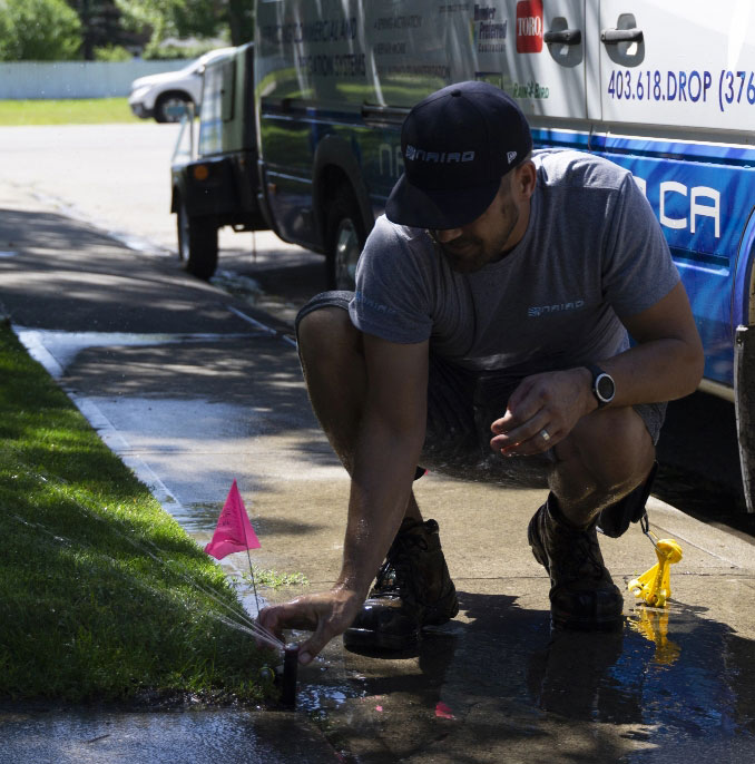
[[556, 445], [597, 407], [591, 379], [585, 368], [524, 378], [509, 398], [506, 414], [490, 425], [490, 448], [504, 457], [529, 457]]

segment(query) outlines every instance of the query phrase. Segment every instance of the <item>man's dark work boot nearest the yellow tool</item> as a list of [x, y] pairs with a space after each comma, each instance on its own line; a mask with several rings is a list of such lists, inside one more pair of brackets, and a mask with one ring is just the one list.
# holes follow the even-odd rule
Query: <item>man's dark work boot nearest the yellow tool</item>
[[557, 628], [608, 630], [621, 624], [624, 598], [604, 565], [596, 522], [579, 529], [550, 493], [530, 520], [527, 538], [550, 575], [550, 616]]

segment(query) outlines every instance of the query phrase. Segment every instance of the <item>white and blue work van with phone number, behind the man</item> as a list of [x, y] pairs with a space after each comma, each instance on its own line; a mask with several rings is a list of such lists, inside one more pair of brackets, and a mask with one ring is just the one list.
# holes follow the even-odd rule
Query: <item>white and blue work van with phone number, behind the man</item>
[[402, 172], [409, 108], [451, 82], [513, 96], [538, 147], [627, 167], [666, 234], [736, 404], [755, 508], [755, 3], [749, 0], [257, 0], [261, 204], [349, 285]]

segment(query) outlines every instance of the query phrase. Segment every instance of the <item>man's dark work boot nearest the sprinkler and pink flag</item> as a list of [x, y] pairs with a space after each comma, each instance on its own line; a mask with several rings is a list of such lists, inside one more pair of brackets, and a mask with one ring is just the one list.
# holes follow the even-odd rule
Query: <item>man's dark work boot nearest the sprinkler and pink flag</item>
[[459, 613], [434, 520], [404, 519], [362, 611], [343, 635], [349, 648], [401, 650], [416, 644], [423, 626]]

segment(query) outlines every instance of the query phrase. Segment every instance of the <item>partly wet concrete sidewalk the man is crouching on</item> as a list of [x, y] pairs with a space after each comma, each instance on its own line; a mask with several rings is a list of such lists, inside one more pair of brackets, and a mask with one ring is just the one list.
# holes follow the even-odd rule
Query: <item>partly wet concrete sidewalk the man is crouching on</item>
[[[0, 302], [19, 335], [198, 542], [235, 478], [263, 545], [255, 562], [303, 572], [308, 591], [334, 580], [349, 483], [311, 413], [287, 322], [187, 277], [171, 259], [1, 193], [0, 254]], [[653, 530], [684, 550], [670, 607], [635, 608], [627, 595], [622, 633], [551, 635], [548, 579], [526, 541], [543, 491], [431, 474], [416, 492], [440, 523], [461, 613], [412, 655], [361, 656], [334, 640], [302, 669], [290, 735], [306, 729], [314, 742], [297, 761], [755, 757], [751, 543], [651, 500]], [[601, 546], [620, 586], [656, 561], [637, 527]], [[77, 713], [56, 719], [65, 731], [67, 717], [70, 732]], [[30, 718], [41, 717], [0, 716], [0, 741], [11, 745], [0, 746], [0, 762], [48, 761], [24, 758]], [[51, 732], [49, 761], [209, 761], [190, 758], [161, 722], [147, 725], [158, 732], [141, 755], [144, 724], [126, 724], [107, 751], [91, 743], [87, 758], [67, 758], [66, 733]], [[224, 728], [243, 734], [235, 724]], [[249, 734], [265, 738], [266, 727]], [[277, 761], [254, 751], [226, 761]]]

